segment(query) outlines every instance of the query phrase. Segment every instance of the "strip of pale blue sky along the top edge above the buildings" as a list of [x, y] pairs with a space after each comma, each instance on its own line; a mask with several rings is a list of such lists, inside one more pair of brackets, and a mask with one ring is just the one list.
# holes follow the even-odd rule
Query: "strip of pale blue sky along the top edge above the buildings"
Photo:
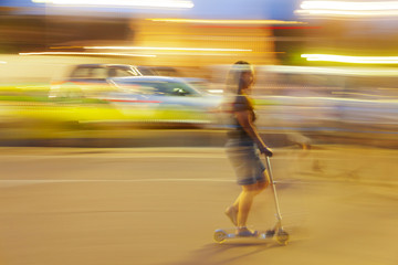
[[[121, 17], [145, 15], [157, 13], [160, 17], [195, 18], [195, 19], [274, 19], [295, 20], [293, 11], [300, 0], [191, 0], [192, 9], [155, 10], [133, 8], [45, 8], [45, 4], [33, 3], [31, 0], [0, 0], [2, 7], [38, 8], [28, 11], [31, 14], [87, 14], [90, 11], [106, 11]], [[77, 12], [76, 12], [77, 11]], [[93, 13], [93, 12], [92, 12]]]

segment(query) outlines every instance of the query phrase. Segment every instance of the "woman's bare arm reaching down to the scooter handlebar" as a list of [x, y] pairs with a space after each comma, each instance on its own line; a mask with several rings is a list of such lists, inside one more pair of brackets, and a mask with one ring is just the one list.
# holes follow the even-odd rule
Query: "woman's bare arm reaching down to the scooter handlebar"
[[272, 157], [272, 151], [266, 147], [264, 141], [261, 139], [255, 126], [253, 125], [252, 113], [249, 110], [240, 110], [235, 112], [235, 117], [238, 119], [238, 123], [242, 126], [242, 128], [248, 132], [248, 135], [254, 140], [254, 142], [258, 145], [260, 151], [262, 153], [265, 153], [269, 157]]

